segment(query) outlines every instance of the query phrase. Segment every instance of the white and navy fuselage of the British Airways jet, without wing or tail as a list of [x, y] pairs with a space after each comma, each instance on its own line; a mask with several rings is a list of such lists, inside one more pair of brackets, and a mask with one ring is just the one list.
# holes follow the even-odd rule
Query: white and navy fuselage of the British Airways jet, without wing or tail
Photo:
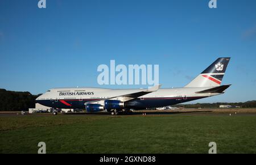
[[[164, 107], [184, 103], [191, 100], [206, 98], [219, 94], [197, 94], [197, 91], [211, 87], [160, 88], [158, 91], [139, 96], [127, 101], [126, 108], [141, 109]], [[85, 108], [88, 101], [102, 100], [132, 94], [141, 89], [108, 89], [108, 88], [53, 88], [39, 96], [36, 101], [53, 108]], [[118, 99], [117, 99], [118, 100]], [[121, 99], [120, 99], [121, 100]], [[122, 101], [122, 100], [121, 100]]]

